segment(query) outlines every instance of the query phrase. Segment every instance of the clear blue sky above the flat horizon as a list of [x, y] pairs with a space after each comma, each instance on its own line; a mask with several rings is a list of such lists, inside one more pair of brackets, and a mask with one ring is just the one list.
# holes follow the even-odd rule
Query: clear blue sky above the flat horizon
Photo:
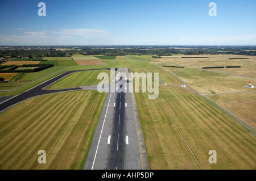
[[0, 45], [256, 45], [255, 9], [255, 0], [1, 0]]

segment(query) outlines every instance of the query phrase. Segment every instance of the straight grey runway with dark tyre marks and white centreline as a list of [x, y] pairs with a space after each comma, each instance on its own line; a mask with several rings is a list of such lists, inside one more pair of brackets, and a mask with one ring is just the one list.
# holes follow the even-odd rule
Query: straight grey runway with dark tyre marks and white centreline
[[[92, 145], [85, 162], [85, 170], [138, 170], [141, 169], [133, 102], [128, 84], [122, 74], [129, 70], [118, 68], [121, 77], [113, 78], [115, 92], [109, 92]], [[119, 82], [119, 83], [118, 83]], [[110, 84], [111, 84], [110, 83]], [[125, 85], [125, 83], [127, 83]]]

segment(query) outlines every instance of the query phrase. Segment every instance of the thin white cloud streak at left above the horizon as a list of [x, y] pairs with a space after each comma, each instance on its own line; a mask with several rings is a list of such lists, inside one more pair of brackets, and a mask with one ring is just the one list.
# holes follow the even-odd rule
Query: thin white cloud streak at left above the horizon
[[61, 29], [58, 31], [52, 31], [52, 33], [58, 33], [67, 36], [83, 36], [85, 38], [106, 38], [110, 36], [110, 34], [106, 31], [93, 29]]

